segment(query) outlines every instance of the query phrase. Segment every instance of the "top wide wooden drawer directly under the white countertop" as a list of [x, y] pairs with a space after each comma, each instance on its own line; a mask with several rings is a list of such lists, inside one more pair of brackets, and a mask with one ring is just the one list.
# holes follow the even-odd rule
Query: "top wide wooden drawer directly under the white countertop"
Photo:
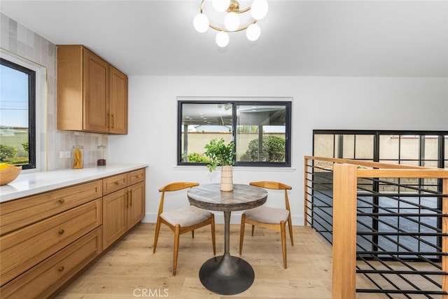
[[2, 202], [0, 204], [1, 235], [99, 197], [102, 197], [101, 180]]

